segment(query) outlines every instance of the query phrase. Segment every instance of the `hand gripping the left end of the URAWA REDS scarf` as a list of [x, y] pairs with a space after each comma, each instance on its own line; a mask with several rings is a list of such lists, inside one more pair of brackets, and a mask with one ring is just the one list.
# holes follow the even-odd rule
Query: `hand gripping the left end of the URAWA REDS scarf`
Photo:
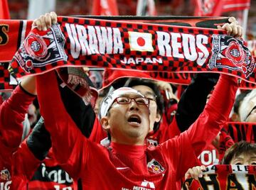
[[57, 23], [57, 14], [55, 12], [46, 13], [41, 15], [33, 21], [32, 28], [37, 27], [38, 30], [47, 30], [52, 24]]

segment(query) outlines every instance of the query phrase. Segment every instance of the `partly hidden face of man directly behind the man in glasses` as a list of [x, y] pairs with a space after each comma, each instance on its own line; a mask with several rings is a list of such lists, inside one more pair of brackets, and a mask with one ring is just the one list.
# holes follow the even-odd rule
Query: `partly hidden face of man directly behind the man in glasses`
[[154, 91], [149, 86], [144, 85], [137, 85], [132, 86], [132, 89], [139, 91], [143, 96], [146, 98], [151, 99], [149, 102], [149, 120], [150, 120], [150, 131], [151, 132], [154, 128], [154, 123], [159, 122], [161, 119], [160, 114], [157, 112], [157, 104], [156, 104], [156, 95]]

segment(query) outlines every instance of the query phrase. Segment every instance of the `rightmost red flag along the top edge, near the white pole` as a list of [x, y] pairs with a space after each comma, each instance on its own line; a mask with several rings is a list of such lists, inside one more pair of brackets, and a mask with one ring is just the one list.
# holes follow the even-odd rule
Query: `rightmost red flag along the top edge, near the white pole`
[[225, 0], [222, 12], [250, 9], [250, 0]]

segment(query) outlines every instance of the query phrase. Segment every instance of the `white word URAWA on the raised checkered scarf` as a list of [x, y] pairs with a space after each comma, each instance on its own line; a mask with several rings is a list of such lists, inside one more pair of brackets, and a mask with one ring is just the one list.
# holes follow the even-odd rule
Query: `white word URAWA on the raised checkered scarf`
[[70, 52], [74, 59], [80, 55], [118, 54], [124, 52], [119, 28], [85, 26], [65, 23]]

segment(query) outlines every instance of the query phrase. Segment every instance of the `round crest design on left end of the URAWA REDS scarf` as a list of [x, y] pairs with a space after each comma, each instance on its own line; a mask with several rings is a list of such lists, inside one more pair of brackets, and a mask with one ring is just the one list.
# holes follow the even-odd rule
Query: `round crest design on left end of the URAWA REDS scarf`
[[57, 24], [46, 31], [31, 31], [23, 45], [14, 55], [14, 59], [26, 71], [33, 67], [44, 67], [60, 60], [66, 61], [65, 38]]

